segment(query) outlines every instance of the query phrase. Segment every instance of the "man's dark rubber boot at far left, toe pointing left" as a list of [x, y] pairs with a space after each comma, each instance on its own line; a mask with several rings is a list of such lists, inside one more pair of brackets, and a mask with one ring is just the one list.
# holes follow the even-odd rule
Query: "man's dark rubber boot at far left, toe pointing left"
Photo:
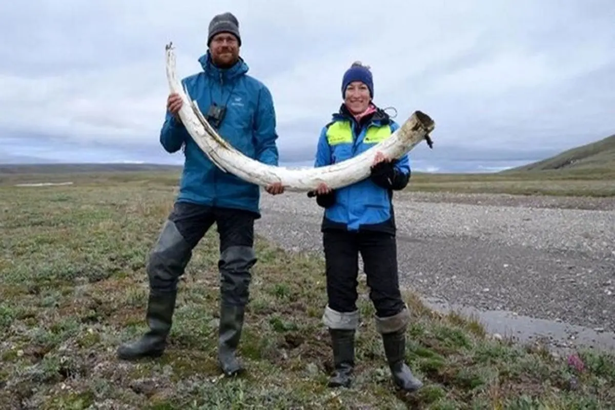
[[137, 360], [143, 357], [159, 357], [164, 353], [172, 325], [176, 296], [176, 292], [153, 293], [150, 291], [146, 313], [149, 331], [137, 341], [122, 344], [117, 349], [117, 357], [122, 360]]

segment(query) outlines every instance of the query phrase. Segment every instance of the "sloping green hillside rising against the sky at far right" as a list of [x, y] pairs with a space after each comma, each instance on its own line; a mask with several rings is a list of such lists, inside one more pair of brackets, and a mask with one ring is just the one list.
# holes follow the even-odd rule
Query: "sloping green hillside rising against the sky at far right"
[[521, 167], [510, 168], [502, 171], [502, 173], [553, 170], [615, 171], [615, 135], [608, 136], [600, 141], [568, 149], [554, 157]]

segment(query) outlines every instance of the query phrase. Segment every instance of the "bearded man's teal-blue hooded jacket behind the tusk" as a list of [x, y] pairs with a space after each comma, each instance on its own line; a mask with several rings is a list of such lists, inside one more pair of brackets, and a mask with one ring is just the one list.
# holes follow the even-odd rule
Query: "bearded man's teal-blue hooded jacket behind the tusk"
[[[264, 164], [278, 165], [276, 113], [269, 89], [248, 76], [248, 65], [240, 59], [232, 68], [216, 68], [207, 52], [199, 58], [203, 71], [181, 82], [207, 118], [212, 103], [226, 105], [218, 133], [234, 148]], [[184, 148], [178, 202], [252, 211], [260, 217], [260, 187], [215, 166], [192, 140], [186, 128], [167, 111], [160, 133], [167, 152]]]

